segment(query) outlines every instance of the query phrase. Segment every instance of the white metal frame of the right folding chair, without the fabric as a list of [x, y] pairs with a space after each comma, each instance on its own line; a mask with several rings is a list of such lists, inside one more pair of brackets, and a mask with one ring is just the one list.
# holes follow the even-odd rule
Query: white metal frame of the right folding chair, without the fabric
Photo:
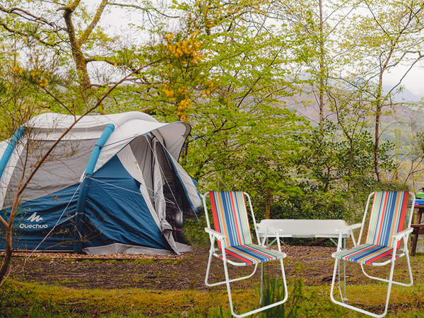
[[[346, 228], [343, 229], [338, 229], [337, 231], [340, 233], [340, 237], [338, 242], [341, 242], [341, 235], [343, 235], [344, 233], [350, 232], [351, 233], [351, 237], [353, 240], [353, 245], [354, 247], [358, 247], [360, 245], [360, 239], [363, 235], [363, 230], [364, 230], [364, 226], [365, 226], [365, 219], [367, 217], [367, 210], [368, 210], [368, 206], [370, 204], [370, 199], [371, 197], [374, 195], [375, 193], [372, 193], [368, 196], [368, 200], [367, 200], [367, 206], [365, 207], [365, 213], [363, 216], [363, 222], [362, 223], [358, 223], [355, 225], [351, 225], [348, 226]], [[373, 264], [372, 266], [384, 266], [387, 264], [391, 264], [391, 269], [390, 269], [390, 274], [389, 274], [389, 279], [384, 279], [384, 278], [379, 278], [379, 277], [375, 277], [375, 276], [370, 276], [365, 272], [364, 269], [364, 264], [360, 264], [361, 269], [364, 273], [365, 276], [367, 276], [368, 278], [372, 278], [375, 279], [377, 281], [383, 281], [385, 283], [389, 283], [388, 287], [387, 287], [387, 296], [386, 296], [386, 306], [384, 308], [384, 312], [382, 314], [375, 314], [373, 312], [369, 312], [367, 310], [363, 310], [361, 308], [358, 307], [354, 307], [352, 305], [348, 305], [345, 302], [343, 302], [343, 296], [341, 296], [342, 301], [339, 302], [338, 300], [334, 299], [334, 295], [333, 295], [333, 290], [334, 290], [334, 282], [335, 282], [335, 278], [336, 278], [336, 271], [338, 269], [338, 265], [340, 262], [340, 259], [336, 259], [336, 262], [334, 264], [334, 273], [333, 273], [333, 280], [331, 282], [331, 291], [330, 291], [330, 297], [331, 300], [338, 304], [341, 305], [343, 307], [349, 308], [351, 310], [355, 310], [357, 312], [361, 312], [363, 314], [368, 314], [372, 317], [384, 317], [387, 314], [387, 309], [389, 307], [389, 298], [390, 298], [390, 292], [391, 292], [391, 285], [392, 284], [396, 284], [396, 285], [402, 285], [402, 286], [411, 286], [413, 285], [413, 277], [412, 277], [412, 271], [411, 271], [411, 263], [409, 261], [409, 251], [408, 251], [408, 235], [413, 231], [413, 228], [411, 228], [411, 220], [412, 220], [412, 216], [413, 216], [413, 208], [414, 208], [414, 204], [415, 204], [415, 200], [416, 197], [413, 193], [409, 193], [411, 194], [411, 196], [413, 197], [412, 202], [411, 202], [411, 211], [409, 212], [409, 216], [408, 216], [408, 226], [406, 228], [406, 230], [402, 230], [401, 232], [397, 232], [396, 234], [392, 235], [391, 237], [391, 247], [393, 248], [393, 252], [391, 253], [391, 259], [388, 259], [387, 261], [381, 261], [379, 263]], [[353, 237], [353, 230], [356, 228], [360, 228], [360, 234], [358, 237], [358, 242], [355, 242], [355, 237]], [[398, 246], [398, 242], [401, 240], [401, 242], [403, 242], [403, 247], [402, 248], [397, 248]], [[338, 245], [337, 247], [337, 252], [334, 254], [337, 254], [338, 252], [341, 252], [341, 245]], [[331, 256], [334, 257], [334, 254], [332, 254]], [[409, 271], [409, 278], [410, 278], [410, 283], [401, 283], [398, 281], [393, 281], [393, 276], [394, 276], [394, 264], [396, 261], [396, 256], [399, 257], [399, 259], [401, 259], [401, 257], [406, 256], [406, 261], [408, 264], [408, 271]], [[340, 277], [338, 278], [340, 279]]]

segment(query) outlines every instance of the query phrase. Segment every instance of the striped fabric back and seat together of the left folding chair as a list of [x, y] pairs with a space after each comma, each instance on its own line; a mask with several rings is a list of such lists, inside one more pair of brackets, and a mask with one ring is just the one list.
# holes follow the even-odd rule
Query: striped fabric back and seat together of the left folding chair
[[[252, 244], [243, 192], [209, 192], [209, 195], [215, 230], [226, 235], [226, 257], [239, 259], [246, 265], [283, 258], [276, 251]], [[220, 242], [218, 247], [222, 249]]]

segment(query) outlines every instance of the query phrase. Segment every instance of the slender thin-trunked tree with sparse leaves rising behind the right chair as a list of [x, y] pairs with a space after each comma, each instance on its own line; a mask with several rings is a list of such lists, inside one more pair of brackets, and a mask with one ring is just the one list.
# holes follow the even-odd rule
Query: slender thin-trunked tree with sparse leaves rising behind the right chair
[[[348, 59], [352, 63], [344, 78], [363, 92], [363, 99], [372, 105], [375, 175], [381, 182], [382, 117], [388, 114], [385, 110], [396, 107], [393, 93], [401, 87], [406, 73], [423, 58], [420, 51], [424, 44], [421, 36], [424, 11], [419, 1], [367, 0], [364, 4], [366, 13], [356, 13], [346, 25], [350, 32], [345, 35], [343, 46], [350, 52]], [[387, 90], [384, 77], [399, 66], [406, 66], [406, 71], [399, 76], [399, 83]]]

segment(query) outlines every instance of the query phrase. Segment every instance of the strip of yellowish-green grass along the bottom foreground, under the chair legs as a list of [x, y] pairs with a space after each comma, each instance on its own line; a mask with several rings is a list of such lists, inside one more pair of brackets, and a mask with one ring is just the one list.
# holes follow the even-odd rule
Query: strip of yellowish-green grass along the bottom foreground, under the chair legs
[[[328, 285], [305, 286], [289, 281], [285, 310], [293, 317], [363, 317], [334, 305]], [[367, 309], [382, 310], [385, 286], [352, 285], [351, 294]], [[259, 305], [258, 290], [235, 290], [236, 311]], [[291, 297], [291, 296], [290, 296]], [[293, 298], [294, 299], [294, 298]], [[424, 286], [394, 286], [387, 317], [424, 317]], [[296, 306], [295, 308], [293, 306]], [[394, 313], [395, 312], [395, 313]], [[211, 290], [119, 290], [75, 289], [9, 279], [0, 290], [1, 317], [231, 317], [226, 291]], [[283, 316], [281, 316], [283, 317]], [[287, 315], [287, 317], [290, 317]]]

